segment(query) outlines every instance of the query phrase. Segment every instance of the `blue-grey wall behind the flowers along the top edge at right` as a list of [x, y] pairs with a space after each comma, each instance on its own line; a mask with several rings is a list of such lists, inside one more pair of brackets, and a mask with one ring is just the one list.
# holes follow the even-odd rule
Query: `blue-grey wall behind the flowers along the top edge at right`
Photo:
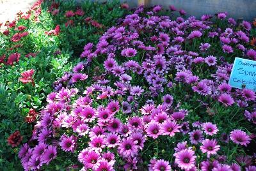
[[[92, 1], [104, 2], [106, 0]], [[120, 2], [128, 3], [131, 8], [138, 5], [138, 0], [120, 0]], [[228, 17], [235, 19], [243, 18], [252, 21], [256, 18], [256, 0], [149, 0], [150, 6], [157, 4], [164, 6], [164, 8], [168, 8], [172, 4], [178, 9], [186, 10], [189, 16], [195, 15], [196, 17], [227, 11]]]

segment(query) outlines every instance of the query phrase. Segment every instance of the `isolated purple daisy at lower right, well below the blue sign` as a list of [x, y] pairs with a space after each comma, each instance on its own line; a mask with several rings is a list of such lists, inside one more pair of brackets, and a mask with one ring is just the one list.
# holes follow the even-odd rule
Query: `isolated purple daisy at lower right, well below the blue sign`
[[250, 143], [251, 138], [242, 130], [233, 130], [230, 133], [230, 139], [240, 145], [247, 146]]

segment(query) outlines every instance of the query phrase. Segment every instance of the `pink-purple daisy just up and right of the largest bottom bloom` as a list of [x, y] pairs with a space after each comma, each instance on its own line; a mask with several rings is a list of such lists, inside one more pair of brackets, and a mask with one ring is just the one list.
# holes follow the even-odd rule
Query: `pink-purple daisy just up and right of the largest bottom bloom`
[[207, 158], [210, 158], [211, 154], [217, 154], [217, 151], [220, 150], [220, 145], [217, 145], [216, 140], [203, 140], [200, 149], [203, 153], [207, 152]]

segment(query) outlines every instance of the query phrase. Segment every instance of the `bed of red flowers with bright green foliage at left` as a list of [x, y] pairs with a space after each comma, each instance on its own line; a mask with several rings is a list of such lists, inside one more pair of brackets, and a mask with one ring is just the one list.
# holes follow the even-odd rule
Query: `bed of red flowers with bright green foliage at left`
[[31, 137], [47, 94], [54, 90], [52, 83], [80, 61], [76, 54], [83, 51], [84, 43], [97, 41], [126, 12], [117, 1], [37, 1], [27, 13], [19, 12], [14, 21], [4, 24], [7, 28], [0, 33], [1, 170], [22, 169], [20, 144]]

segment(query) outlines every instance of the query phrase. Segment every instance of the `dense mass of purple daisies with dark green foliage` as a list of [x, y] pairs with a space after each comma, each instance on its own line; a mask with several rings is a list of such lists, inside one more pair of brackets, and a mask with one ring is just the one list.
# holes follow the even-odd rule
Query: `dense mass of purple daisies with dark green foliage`
[[86, 43], [20, 148], [25, 170], [256, 170], [255, 92], [227, 84], [234, 57], [256, 60], [255, 28], [177, 13], [141, 6]]

